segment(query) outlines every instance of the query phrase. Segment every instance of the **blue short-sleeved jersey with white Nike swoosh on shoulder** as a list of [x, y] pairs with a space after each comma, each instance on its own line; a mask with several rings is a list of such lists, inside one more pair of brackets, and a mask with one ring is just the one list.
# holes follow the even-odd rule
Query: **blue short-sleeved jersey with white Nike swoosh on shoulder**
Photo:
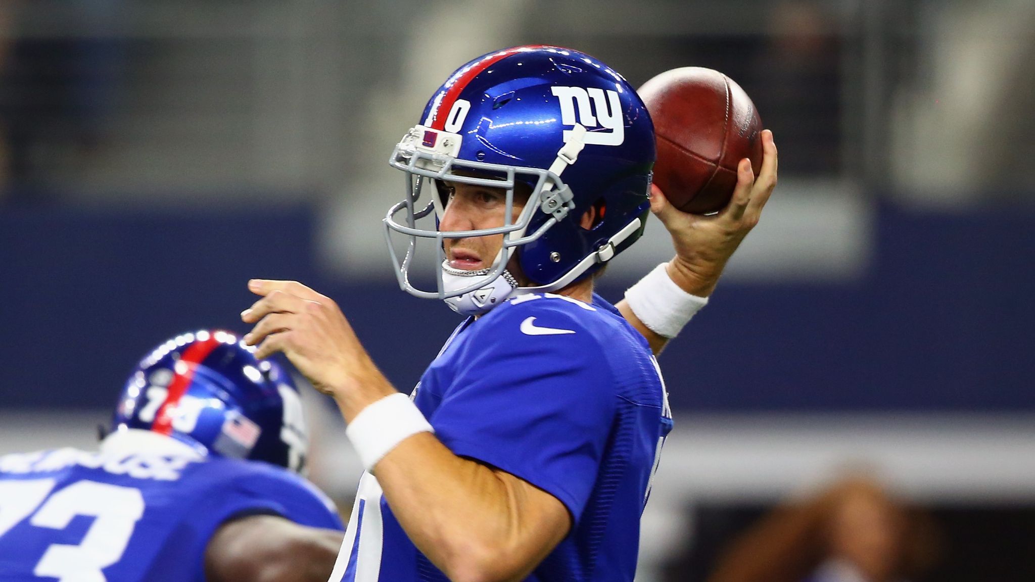
[[[415, 388], [454, 454], [546, 491], [573, 526], [528, 580], [631, 581], [640, 517], [672, 428], [647, 342], [603, 299], [508, 300], [468, 319]], [[364, 473], [331, 581], [445, 581]]]

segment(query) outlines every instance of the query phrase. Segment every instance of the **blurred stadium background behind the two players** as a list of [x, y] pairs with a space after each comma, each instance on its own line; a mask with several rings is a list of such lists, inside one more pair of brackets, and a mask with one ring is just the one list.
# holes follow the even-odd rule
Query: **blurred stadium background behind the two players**
[[[334, 297], [406, 390], [455, 324], [398, 291], [386, 161], [459, 63], [570, 46], [735, 79], [780, 184], [662, 354], [676, 432], [642, 579], [844, 471], [927, 507], [930, 580], [1035, 578], [1035, 2], [0, 2], [0, 453], [92, 446], [135, 361], [243, 330], [252, 277]], [[656, 221], [616, 299], [670, 256]], [[359, 465], [310, 403], [313, 478]], [[746, 516], [746, 517], [745, 517]]]

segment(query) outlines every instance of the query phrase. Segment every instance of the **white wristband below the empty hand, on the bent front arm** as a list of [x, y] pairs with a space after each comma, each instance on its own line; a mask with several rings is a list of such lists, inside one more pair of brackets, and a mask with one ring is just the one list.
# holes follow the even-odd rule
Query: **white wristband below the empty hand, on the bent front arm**
[[406, 438], [434, 432], [410, 397], [402, 392], [367, 405], [345, 428], [345, 435], [367, 471], [373, 471], [378, 461]]

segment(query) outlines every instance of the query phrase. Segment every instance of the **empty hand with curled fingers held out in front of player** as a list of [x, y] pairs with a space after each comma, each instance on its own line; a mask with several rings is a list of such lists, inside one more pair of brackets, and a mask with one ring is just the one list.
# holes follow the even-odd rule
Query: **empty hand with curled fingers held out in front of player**
[[333, 299], [295, 281], [253, 279], [248, 290], [262, 296], [241, 312], [256, 357], [284, 352], [315, 388], [359, 408], [394, 391]]

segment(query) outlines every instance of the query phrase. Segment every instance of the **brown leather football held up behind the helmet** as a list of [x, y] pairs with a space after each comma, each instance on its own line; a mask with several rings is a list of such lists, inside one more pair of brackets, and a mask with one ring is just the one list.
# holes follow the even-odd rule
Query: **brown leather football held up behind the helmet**
[[680, 210], [721, 210], [737, 184], [737, 164], [762, 168], [762, 119], [747, 93], [700, 66], [667, 70], [640, 88], [654, 121], [654, 183]]

